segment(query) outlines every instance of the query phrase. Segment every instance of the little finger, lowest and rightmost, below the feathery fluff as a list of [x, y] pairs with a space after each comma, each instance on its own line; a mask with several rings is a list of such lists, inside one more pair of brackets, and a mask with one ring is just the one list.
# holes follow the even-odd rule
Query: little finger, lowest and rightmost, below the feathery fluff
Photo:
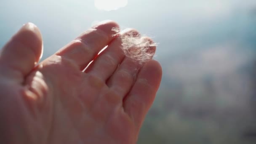
[[141, 68], [136, 82], [124, 100], [124, 110], [137, 126], [141, 127], [151, 107], [162, 77], [160, 64], [151, 60]]

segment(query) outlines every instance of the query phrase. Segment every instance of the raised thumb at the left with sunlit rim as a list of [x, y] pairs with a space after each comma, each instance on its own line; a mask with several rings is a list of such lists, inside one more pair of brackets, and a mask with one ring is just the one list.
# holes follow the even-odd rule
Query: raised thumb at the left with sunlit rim
[[0, 72], [5, 76], [26, 76], [39, 61], [43, 52], [40, 30], [27, 23], [3, 47], [0, 53]]

